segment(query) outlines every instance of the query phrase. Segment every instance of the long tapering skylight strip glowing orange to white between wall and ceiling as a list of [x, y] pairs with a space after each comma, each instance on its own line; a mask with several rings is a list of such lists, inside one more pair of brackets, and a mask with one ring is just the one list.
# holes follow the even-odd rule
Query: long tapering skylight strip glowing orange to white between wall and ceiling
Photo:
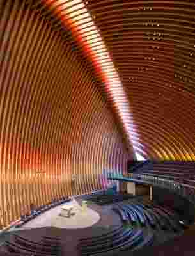
[[[111, 95], [120, 121], [133, 146], [134, 136], [131, 135], [129, 126], [135, 127], [135, 125], [130, 113], [129, 101], [102, 36], [85, 6], [86, 2], [81, 0], [44, 0], [44, 3], [61, 19], [65, 27], [72, 31], [72, 35], [82, 47], [84, 54], [93, 63], [97, 74], [102, 77], [105, 90]], [[136, 135], [136, 138], [138, 137], [135, 132], [133, 134]]]

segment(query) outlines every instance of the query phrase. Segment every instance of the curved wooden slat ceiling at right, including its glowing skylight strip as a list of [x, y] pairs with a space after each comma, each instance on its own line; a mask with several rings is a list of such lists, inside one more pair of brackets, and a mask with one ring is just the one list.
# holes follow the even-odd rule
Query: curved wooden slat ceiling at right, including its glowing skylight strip
[[195, 160], [194, 1], [42, 0], [37, 6], [95, 68], [136, 152]]

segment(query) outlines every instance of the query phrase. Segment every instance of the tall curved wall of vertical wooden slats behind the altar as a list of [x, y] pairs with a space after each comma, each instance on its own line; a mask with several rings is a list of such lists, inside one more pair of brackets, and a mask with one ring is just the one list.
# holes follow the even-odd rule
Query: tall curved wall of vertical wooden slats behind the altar
[[[1, 1], [1, 226], [36, 206], [104, 188], [126, 172], [113, 114], [86, 64], [22, 1]], [[105, 184], [106, 185], [106, 184]]]

